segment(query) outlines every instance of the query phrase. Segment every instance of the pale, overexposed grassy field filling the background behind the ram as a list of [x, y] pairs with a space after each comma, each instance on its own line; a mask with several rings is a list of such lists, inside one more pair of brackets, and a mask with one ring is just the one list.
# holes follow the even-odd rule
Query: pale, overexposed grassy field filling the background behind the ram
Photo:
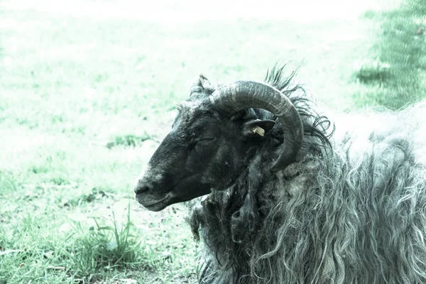
[[185, 206], [132, 190], [192, 80], [288, 62], [323, 109], [400, 109], [425, 28], [424, 0], [0, 0], [0, 283], [195, 283]]

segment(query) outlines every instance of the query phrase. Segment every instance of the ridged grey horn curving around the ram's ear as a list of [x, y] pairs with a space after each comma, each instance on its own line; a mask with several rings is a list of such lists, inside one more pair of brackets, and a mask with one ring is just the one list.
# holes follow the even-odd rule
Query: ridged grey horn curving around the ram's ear
[[271, 170], [285, 168], [296, 158], [302, 146], [303, 125], [300, 115], [288, 97], [269, 84], [254, 81], [236, 81], [219, 87], [210, 96], [214, 107], [222, 114], [231, 115], [241, 109], [266, 109], [278, 117], [284, 131], [284, 143]]

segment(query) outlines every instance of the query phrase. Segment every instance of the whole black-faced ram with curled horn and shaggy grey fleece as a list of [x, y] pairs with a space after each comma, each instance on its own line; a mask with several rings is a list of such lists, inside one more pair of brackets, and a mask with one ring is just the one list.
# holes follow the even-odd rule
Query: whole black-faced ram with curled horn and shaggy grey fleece
[[136, 200], [207, 195], [200, 283], [426, 283], [426, 104], [332, 123], [293, 75], [197, 77]]

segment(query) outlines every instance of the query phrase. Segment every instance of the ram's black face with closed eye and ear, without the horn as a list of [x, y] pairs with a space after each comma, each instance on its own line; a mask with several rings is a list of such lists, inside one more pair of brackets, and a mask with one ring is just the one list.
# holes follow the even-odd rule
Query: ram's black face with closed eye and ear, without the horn
[[212, 187], [225, 188], [244, 167], [249, 148], [261, 139], [253, 129], [268, 131], [274, 124], [223, 119], [206, 110], [205, 104], [182, 108], [145, 174], [138, 178], [136, 200], [147, 209], [160, 211], [170, 204], [207, 195]]

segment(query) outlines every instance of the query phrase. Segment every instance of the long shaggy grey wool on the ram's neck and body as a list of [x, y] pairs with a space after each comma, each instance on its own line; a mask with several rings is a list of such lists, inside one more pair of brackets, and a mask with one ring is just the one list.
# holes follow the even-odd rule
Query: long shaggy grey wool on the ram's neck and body
[[231, 186], [192, 208], [200, 283], [426, 283], [425, 102], [339, 116], [332, 136], [283, 69], [266, 82], [295, 104], [304, 142], [296, 163], [272, 173], [274, 128]]

